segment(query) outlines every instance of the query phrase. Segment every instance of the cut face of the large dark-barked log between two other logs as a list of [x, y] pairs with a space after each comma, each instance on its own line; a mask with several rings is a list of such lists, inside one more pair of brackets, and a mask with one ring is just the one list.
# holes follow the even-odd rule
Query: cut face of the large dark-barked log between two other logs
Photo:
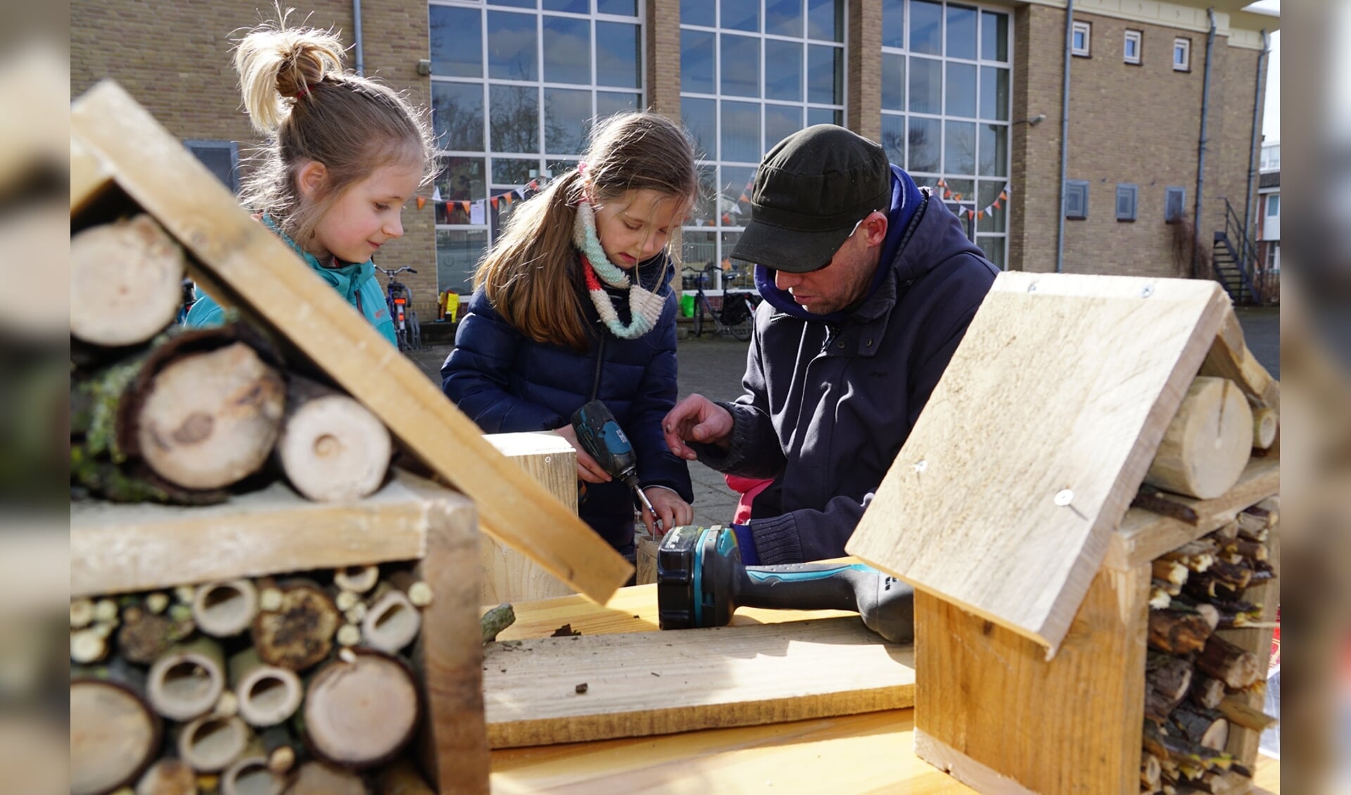
[[258, 471], [277, 441], [285, 385], [245, 343], [176, 359], [155, 374], [136, 422], [142, 458], [184, 489]]

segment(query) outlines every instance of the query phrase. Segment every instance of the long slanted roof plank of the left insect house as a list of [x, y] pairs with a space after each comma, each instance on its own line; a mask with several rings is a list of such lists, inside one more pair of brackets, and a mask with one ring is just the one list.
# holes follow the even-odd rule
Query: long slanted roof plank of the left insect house
[[478, 505], [480, 528], [604, 602], [634, 567], [469, 421], [122, 88], [101, 82], [70, 113], [72, 131], [118, 185], [204, 270], [385, 422]]

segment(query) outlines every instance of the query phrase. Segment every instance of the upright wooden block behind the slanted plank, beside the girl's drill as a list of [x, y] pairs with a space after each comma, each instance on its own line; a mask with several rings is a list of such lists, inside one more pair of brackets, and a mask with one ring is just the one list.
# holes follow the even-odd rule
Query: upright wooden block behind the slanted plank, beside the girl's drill
[[[557, 433], [488, 433], [484, 436], [540, 486], [549, 489], [567, 510], [577, 513], [577, 451]], [[480, 605], [500, 605], [528, 599], [551, 599], [576, 594], [527, 555], [496, 539], [478, 540]]]

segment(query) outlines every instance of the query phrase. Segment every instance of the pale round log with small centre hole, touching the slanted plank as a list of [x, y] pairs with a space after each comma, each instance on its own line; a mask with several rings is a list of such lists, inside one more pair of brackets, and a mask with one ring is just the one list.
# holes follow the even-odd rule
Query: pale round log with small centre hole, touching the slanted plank
[[385, 481], [393, 444], [385, 424], [340, 391], [290, 375], [277, 459], [315, 502], [361, 499]]

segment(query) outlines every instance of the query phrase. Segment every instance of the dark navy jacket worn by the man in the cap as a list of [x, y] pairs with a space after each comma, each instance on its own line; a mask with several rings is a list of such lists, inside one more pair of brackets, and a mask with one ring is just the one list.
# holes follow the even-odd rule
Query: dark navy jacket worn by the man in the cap
[[[893, 190], [892, 217], [902, 194]], [[751, 503], [763, 564], [844, 555], [997, 273], [928, 189], [882, 251], [871, 293], [836, 321], [801, 309], [757, 266], [765, 302], [746, 394], [721, 404], [735, 421], [731, 448], [692, 447], [719, 471], [773, 479]]]

